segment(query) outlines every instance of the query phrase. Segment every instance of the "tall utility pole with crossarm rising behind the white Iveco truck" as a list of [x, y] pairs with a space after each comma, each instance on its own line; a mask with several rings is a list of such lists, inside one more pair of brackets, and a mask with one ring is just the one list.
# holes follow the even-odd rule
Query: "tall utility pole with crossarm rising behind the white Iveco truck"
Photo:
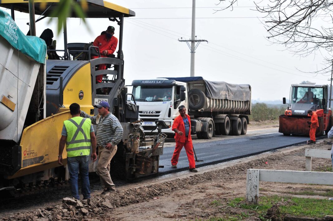
[[[192, 0], [192, 34], [191, 34], [191, 39], [190, 40], [182, 40], [182, 38], [180, 38], [180, 40], [178, 39], [179, 42], [186, 42], [187, 46], [189, 47], [189, 49], [191, 50], [191, 77], [194, 77], [194, 53], [195, 53], [195, 49], [198, 47], [198, 45], [200, 44], [200, 42], [208, 42], [207, 40], [196, 40], [195, 39], [195, 0]], [[191, 46], [189, 45], [188, 42], [191, 42]], [[195, 45], [195, 42], [196, 45]]]

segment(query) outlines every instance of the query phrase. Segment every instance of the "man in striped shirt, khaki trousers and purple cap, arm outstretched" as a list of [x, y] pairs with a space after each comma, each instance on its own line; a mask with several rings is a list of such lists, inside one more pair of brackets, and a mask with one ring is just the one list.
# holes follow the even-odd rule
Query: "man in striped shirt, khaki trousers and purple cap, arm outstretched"
[[123, 138], [123, 127], [115, 115], [110, 113], [110, 105], [106, 101], [100, 102], [94, 107], [98, 108], [99, 115], [90, 116], [81, 111], [80, 116], [90, 118], [96, 125], [96, 139], [98, 146], [97, 174], [100, 176], [104, 188], [102, 194], [116, 190], [110, 176], [110, 162], [117, 152], [117, 144]]

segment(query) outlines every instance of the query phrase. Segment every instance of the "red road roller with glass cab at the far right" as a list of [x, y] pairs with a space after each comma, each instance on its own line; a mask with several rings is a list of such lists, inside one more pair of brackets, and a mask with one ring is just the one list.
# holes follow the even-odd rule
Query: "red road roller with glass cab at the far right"
[[[285, 136], [309, 136], [310, 128], [307, 121], [311, 116], [308, 110], [318, 115], [319, 127], [316, 136], [327, 133], [332, 127], [332, 111], [327, 108], [328, 86], [310, 84], [292, 84], [288, 108], [279, 116], [279, 132]], [[286, 98], [283, 98], [286, 104]]]

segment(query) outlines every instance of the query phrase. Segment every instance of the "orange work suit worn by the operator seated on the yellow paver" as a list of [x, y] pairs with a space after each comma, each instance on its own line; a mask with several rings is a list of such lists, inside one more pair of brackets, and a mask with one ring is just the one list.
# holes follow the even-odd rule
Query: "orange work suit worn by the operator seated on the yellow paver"
[[[118, 39], [115, 36], [112, 36], [111, 39], [108, 41], [106, 39], [106, 35], [100, 35], [98, 36], [95, 41], [94, 41], [94, 46], [98, 47], [100, 49], [100, 53], [102, 54], [103, 51], [107, 50], [108, 51], [108, 55], [112, 55], [117, 48], [117, 44], [118, 44]], [[107, 57], [105, 55], [101, 55], [101, 57]], [[98, 58], [98, 56], [92, 56], [92, 59], [94, 58]], [[99, 70], [105, 70], [106, 69], [106, 65], [105, 64], [100, 64], [99, 65]], [[103, 79], [103, 75], [97, 75], [96, 76], [96, 83], [101, 83]]]

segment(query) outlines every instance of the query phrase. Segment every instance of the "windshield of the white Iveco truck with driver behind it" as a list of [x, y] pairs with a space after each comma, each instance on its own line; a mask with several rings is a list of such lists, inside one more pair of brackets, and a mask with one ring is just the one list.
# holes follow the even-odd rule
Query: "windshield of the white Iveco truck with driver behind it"
[[133, 95], [136, 101], [169, 101], [172, 98], [172, 86], [134, 86]]

